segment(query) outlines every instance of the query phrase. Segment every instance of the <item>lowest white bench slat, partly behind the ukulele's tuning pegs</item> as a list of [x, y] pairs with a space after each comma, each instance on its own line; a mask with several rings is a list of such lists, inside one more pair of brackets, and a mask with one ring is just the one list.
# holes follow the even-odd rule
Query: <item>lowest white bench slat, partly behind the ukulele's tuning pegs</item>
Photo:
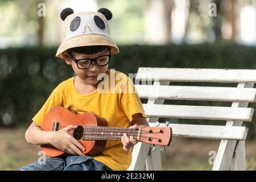
[[[155, 126], [154, 123], [149, 123]], [[160, 123], [160, 126], [165, 126]], [[213, 126], [213, 125], [183, 125], [170, 124], [172, 135], [175, 137], [222, 139], [222, 140], [245, 140], [247, 127], [243, 126]]]

